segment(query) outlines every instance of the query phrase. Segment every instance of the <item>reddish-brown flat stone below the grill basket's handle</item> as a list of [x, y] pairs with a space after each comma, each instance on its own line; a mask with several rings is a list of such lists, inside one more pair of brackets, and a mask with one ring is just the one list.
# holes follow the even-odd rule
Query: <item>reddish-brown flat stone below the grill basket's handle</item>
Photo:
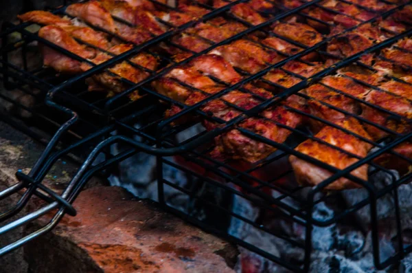
[[233, 272], [236, 248], [124, 188], [89, 188], [74, 206], [76, 217], [25, 246], [32, 272]]

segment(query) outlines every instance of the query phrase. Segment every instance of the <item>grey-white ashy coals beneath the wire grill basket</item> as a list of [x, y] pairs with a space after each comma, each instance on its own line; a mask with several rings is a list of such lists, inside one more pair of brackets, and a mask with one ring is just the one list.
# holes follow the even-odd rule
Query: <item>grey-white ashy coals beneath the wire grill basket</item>
[[[201, 127], [192, 127], [192, 129], [185, 131], [183, 135], [179, 135], [178, 140], [183, 141], [202, 130], [203, 128]], [[119, 145], [113, 145], [112, 153], [119, 153], [124, 148]], [[167, 157], [166, 160], [174, 164], [182, 164], [181, 160], [177, 157]], [[195, 171], [197, 172], [198, 170]], [[176, 186], [192, 190], [196, 197], [203, 197], [214, 204], [222, 207], [225, 206], [225, 208], [231, 210], [231, 217], [225, 215], [228, 218], [227, 226], [220, 226], [220, 228], [226, 228], [231, 236], [264, 250], [268, 254], [277, 257], [279, 261], [303, 268], [306, 228], [299, 221], [293, 221], [292, 216], [285, 217], [284, 215], [288, 212], [280, 208], [271, 210], [271, 212], [262, 211], [252, 204], [251, 201], [239, 195], [231, 195], [228, 202], [227, 195], [222, 193], [222, 190], [219, 190], [217, 187], [207, 186], [206, 183], [199, 182], [196, 177], [187, 175], [187, 173], [183, 173], [169, 164], [163, 164], [163, 177]], [[393, 183], [393, 179], [398, 179], [399, 175], [396, 171], [385, 173], [369, 167], [369, 178], [377, 189], [381, 189]], [[128, 158], [128, 160], [124, 160], [124, 162], [119, 164], [117, 173], [111, 175], [109, 180], [112, 185], [122, 186], [139, 198], [149, 198], [156, 201], [158, 199], [156, 158], [151, 155], [138, 153]], [[230, 183], [226, 183], [226, 185], [236, 188], [236, 185]], [[166, 184], [164, 184], [164, 192], [165, 201], [168, 205], [186, 212], [192, 217], [200, 220], [205, 220], [209, 217], [212, 220], [211, 222], [224, 221], [216, 210], [211, 210], [204, 204], [194, 201], [193, 196], [190, 194], [183, 193], [183, 191]], [[299, 198], [304, 199], [307, 192], [308, 189], [301, 190]], [[273, 197], [279, 197], [281, 194], [272, 190], [272, 195]], [[321, 197], [323, 195], [319, 194], [315, 197], [315, 200]], [[317, 203], [312, 210], [312, 217], [319, 221], [327, 221], [339, 211], [354, 206], [367, 198], [368, 193], [364, 189], [344, 190], [339, 194], [326, 198], [325, 201]], [[404, 184], [399, 187], [398, 200], [404, 234], [403, 244], [408, 245], [412, 243], [411, 184]], [[299, 209], [299, 203], [293, 198], [286, 197], [282, 201], [288, 204], [288, 206]], [[396, 254], [399, 246], [396, 221], [393, 216], [395, 215], [394, 204], [395, 196], [393, 193], [388, 193], [377, 201], [379, 255], [381, 262]], [[277, 213], [277, 210], [279, 210], [279, 213]], [[257, 227], [253, 226], [243, 219], [248, 219], [253, 223], [258, 223], [258, 225]], [[301, 220], [299, 218], [295, 219]], [[385, 270], [376, 269], [372, 254], [371, 230], [369, 228], [371, 224], [370, 209], [369, 206], [365, 206], [336, 224], [326, 227], [314, 226], [312, 228], [310, 272], [412, 273], [412, 254], [405, 257], [400, 265], [396, 267], [387, 267]], [[239, 250], [238, 263], [234, 268], [236, 272], [292, 272], [286, 267], [265, 259], [246, 248], [239, 247]]]

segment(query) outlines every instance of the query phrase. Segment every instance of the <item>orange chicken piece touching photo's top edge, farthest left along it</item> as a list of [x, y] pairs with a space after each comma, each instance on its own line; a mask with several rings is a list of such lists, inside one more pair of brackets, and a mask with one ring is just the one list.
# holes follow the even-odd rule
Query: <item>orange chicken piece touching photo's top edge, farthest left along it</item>
[[91, 0], [84, 3], [73, 3], [66, 9], [67, 14], [78, 17], [91, 25], [95, 25], [109, 32], [115, 33], [117, 28], [111, 14], [98, 1]]

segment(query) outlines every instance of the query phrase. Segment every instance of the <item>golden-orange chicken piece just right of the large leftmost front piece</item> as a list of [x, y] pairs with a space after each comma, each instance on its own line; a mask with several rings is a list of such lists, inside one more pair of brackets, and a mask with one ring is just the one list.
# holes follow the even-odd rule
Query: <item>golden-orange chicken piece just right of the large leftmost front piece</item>
[[[113, 55], [119, 55], [127, 50], [130, 50], [132, 45], [115, 45], [111, 47], [108, 52], [111, 52]], [[100, 63], [104, 63], [108, 61], [113, 56], [106, 54], [104, 52], [100, 52], [93, 60], [91, 60], [96, 65]], [[133, 83], [139, 83], [141, 80], [144, 80], [149, 76], [148, 72], [139, 69], [138, 67], [134, 67], [133, 64], [140, 65], [141, 67], [145, 67], [150, 70], [155, 70], [157, 68], [157, 60], [154, 56], [146, 53], [138, 54], [133, 58], [130, 58], [130, 61], [123, 61], [122, 63], [118, 63], [114, 67], [108, 69], [110, 72], [113, 72], [115, 75], [111, 75], [107, 72], [95, 74], [93, 76], [93, 80], [101, 85], [108, 87], [111, 91], [115, 93], [119, 93], [126, 89], [124, 83], [120, 80], [119, 76], [130, 80]], [[87, 71], [91, 68], [91, 65], [87, 63], [82, 63], [81, 66], [83, 71]], [[135, 97], [136, 98], [136, 97]]]

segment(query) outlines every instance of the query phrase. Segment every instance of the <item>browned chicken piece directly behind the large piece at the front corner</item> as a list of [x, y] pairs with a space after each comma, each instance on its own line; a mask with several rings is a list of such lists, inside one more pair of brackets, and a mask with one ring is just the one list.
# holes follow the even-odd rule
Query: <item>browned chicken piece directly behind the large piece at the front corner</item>
[[[345, 94], [355, 98], [363, 98], [367, 91], [369, 91], [369, 88], [355, 83], [350, 78], [336, 76], [327, 76], [321, 80], [321, 83], [323, 85], [312, 85], [304, 91], [310, 97], [307, 102], [309, 111], [313, 116], [328, 120], [329, 122], [336, 122], [345, 118], [345, 113], [332, 109], [329, 105], [348, 113], [360, 113], [359, 102], [349, 96], [345, 96]], [[332, 87], [332, 89], [329, 87]], [[341, 94], [339, 91], [344, 94]], [[325, 103], [328, 105], [325, 105]], [[325, 126], [325, 123], [314, 119], [310, 120], [310, 124], [315, 132]]]

